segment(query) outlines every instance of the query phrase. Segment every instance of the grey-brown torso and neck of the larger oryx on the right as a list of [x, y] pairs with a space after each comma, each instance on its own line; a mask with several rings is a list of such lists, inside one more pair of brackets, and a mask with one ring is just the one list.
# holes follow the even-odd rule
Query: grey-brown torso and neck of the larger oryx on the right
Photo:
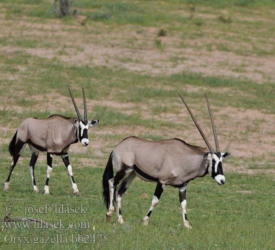
[[[121, 166], [136, 166], [158, 182], [171, 186], [182, 186], [197, 176], [208, 172], [208, 161], [203, 159], [207, 148], [187, 144], [174, 138], [151, 141], [138, 137], [128, 137], [113, 149], [113, 159]], [[144, 180], [149, 180], [142, 175]]]

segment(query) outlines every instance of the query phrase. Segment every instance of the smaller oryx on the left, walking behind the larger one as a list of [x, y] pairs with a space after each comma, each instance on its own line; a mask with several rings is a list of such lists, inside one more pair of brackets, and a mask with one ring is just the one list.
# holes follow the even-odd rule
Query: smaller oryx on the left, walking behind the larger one
[[13, 135], [9, 143], [8, 149], [12, 156], [11, 165], [9, 167], [8, 176], [4, 182], [4, 189], [8, 189], [9, 178], [16, 162], [25, 147], [28, 144], [31, 151], [31, 159], [29, 162], [29, 172], [32, 179], [33, 191], [38, 192], [38, 188], [34, 178], [34, 165], [40, 151], [47, 152], [47, 177], [44, 185], [44, 194], [49, 194], [48, 180], [52, 171], [52, 155], [61, 155], [62, 160], [69, 172], [73, 193], [79, 195], [78, 188], [72, 175], [72, 168], [69, 163], [67, 150], [70, 144], [76, 143], [78, 140], [84, 145], [88, 145], [87, 130], [89, 126], [95, 126], [98, 123], [97, 119], [87, 120], [86, 100], [84, 90], [84, 119], [81, 118], [78, 108], [75, 104], [74, 98], [67, 85], [69, 94], [74, 105], [77, 118], [65, 117], [58, 114], [50, 115], [45, 119], [29, 117], [23, 120], [19, 125], [17, 131]]

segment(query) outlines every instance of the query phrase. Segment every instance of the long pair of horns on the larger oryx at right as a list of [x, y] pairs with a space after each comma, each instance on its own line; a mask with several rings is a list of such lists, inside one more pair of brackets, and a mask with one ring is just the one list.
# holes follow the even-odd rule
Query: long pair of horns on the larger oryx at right
[[[198, 125], [192, 111], [190, 110], [190, 108], [188, 107], [187, 103], [185, 102], [185, 100], [181, 97], [180, 94], [178, 94], [179, 97], [181, 98], [181, 100], [183, 101], [183, 103], [185, 104], [189, 114], [191, 115], [199, 133], [201, 134], [206, 146], [209, 148], [210, 152], [211, 153], [214, 153], [214, 149], [211, 147], [209, 141], [207, 140], [205, 134], [202, 132], [202, 129], [200, 128], [200, 126]], [[208, 106], [208, 111], [209, 111], [209, 115], [210, 115], [210, 120], [211, 120], [211, 125], [212, 125], [212, 130], [213, 130], [213, 135], [214, 135], [214, 140], [215, 140], [215, 145], [216, 145], [216, 152], [218, 153], [219, 152], [219, 146], [218, 146], [218, 140], [217, 140], [217, 134], [216, 134], [216, 128], [215, 128], [215, 123], [214, 123], [214, 120], [213, 120], [213, 116], [212, 116], [212, 111], [211, 111], [211, 108], [210, 108], [210, 104], [209, 104], [209, 101], [208, 101], [208, 98], [207, 98], [207, 95], [205, 93], [205, 98], [206, 98], [206, 101], [207, 101], [207, 106]]]

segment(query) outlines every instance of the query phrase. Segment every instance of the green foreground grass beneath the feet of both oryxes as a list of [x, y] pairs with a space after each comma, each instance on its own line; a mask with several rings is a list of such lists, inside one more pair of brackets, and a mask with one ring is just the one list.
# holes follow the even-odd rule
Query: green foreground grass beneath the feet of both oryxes
[[[0, 245], [5, 248], [15, 246], [13, 243], [4, 242], [7, 234], [29, 236], [30, 244], [21, 244], [22, 249], [34, 247], [33, 243], [39, 240], [37, 238], [33, 240], [33, 237], [56, 237], [56, 234], [61, 234], [63, 238], [68, 238], [69, 243], [58, 244], [56, 247], [62, 245], [65, 249], [79, 247], [135, 249], [144, 247], [145, 241], [146, 247], [153, 249], [273, 249], [271, 228], [275, 219], [272, 199], [274, 193], [272, 181], [265, 174], [227, 173], [224, 186], [217, 186], [209, 176], [191, 181], [187, 188], [187, 216], [193, 229], [187, 230], [183, 227], [176, 188], [167, 187], [164, 190], [159, 205], [150, 216], [149, 225], [144, 227], [141, 219], [150, 205], [155, 184], [135, 179], [122, 199], [122, 213], [126, 223], [118, 224], [115, 214], [107, 223], [101, 199], [102, 168], [73, 167], [81, 193], [80, 197], [74, 197], [70, 190], [68, 173], [59, 160], [54, 164], [53, 174], [50, 177], [51, 195], [43, 196], [41, 193], [34, 194], [31, 191], [30, 177], [24, 166], [27, 159], [24, 157], [22, 164], [14, 170], [10, 190], [1, 194], [5, 201], [0, 203], [0, 216], [3, 217], [5, 214], [3, 210], [7, 203], [14, 207], [13, 216], [21, 216], [24, 207], [45, 207], [47, 203], [48, 213], [32, 212], [26, 216], [39, 217], [44, 221], [60, 219], [66, 227], [69, 222], [75, 223], [77, 227], [79, 226], [77, 222], [88, 221], [88, 224], [82, 226], [89, 228], [4, 229], [0, 234]], [[1, 175], [6, 174], [7, 166], [8, 164], [4, 164], [1, 168]], [[42, 190], [45, 180], [44, 164], [37, 164], [35, 174], [38, 188]], [[141, 198], [143, 192], [150, 198]], [[84, 209], [86, 213], [55, 213], [55, 204], [73, 208], [82, 204], [86, 207]], [[16, 211], [16, 208], [21, 210]], [[97, 239], [96, 243], [71, 243], [72, 234], [84, 237], [93, 233], [107, 234], [108, 242], [98, 244]], [[48, 246], [48, 244], [39, 244], [40, 249]]]

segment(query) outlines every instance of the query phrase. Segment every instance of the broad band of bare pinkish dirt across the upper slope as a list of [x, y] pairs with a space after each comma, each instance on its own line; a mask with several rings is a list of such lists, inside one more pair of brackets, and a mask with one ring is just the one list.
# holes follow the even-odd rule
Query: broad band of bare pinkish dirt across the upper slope
[[[206, 44], [216, 42], [207, 36], [184, 40], [186, 44], [199, 48], [178, 48], [180, 34], [157, 37], [158, 29], [153, 27], [144, 27], [140, 31], [134, 26], [124, 25], [122, 29], [106, 28], [107, 32], [99, 33], [103, 24], [67, 25], [60, 20], [49, 19], [42, 23], [35, 22], [35, 19], [29, 22], [25, 17], [14, 22], [4, 19], [3, 14], [0, 20], [3, 27], [0, 37], [23, 36], [51, 44], [48, 47], [38, 44], [34, 48], [7, 44], [0, 48], [6, 52], [24, 51], [46, 58], [58, 55], [58, 58], [73, 64], [119, 66], [147, 74], [172, 74], [186, 70], [202, 75], [249, 78], [257, 82], [275, 79], [274, 56], [239, 55], [214, 47], [207, 51]], [[155, 47], [156, 38], [163, 44], [162, 49]], [[230, 44], [228, 41], [219, 42]], [[235, 46], [234, 43], [232, 45]], [[60, 54], [59, 51], [65, 52]]]

